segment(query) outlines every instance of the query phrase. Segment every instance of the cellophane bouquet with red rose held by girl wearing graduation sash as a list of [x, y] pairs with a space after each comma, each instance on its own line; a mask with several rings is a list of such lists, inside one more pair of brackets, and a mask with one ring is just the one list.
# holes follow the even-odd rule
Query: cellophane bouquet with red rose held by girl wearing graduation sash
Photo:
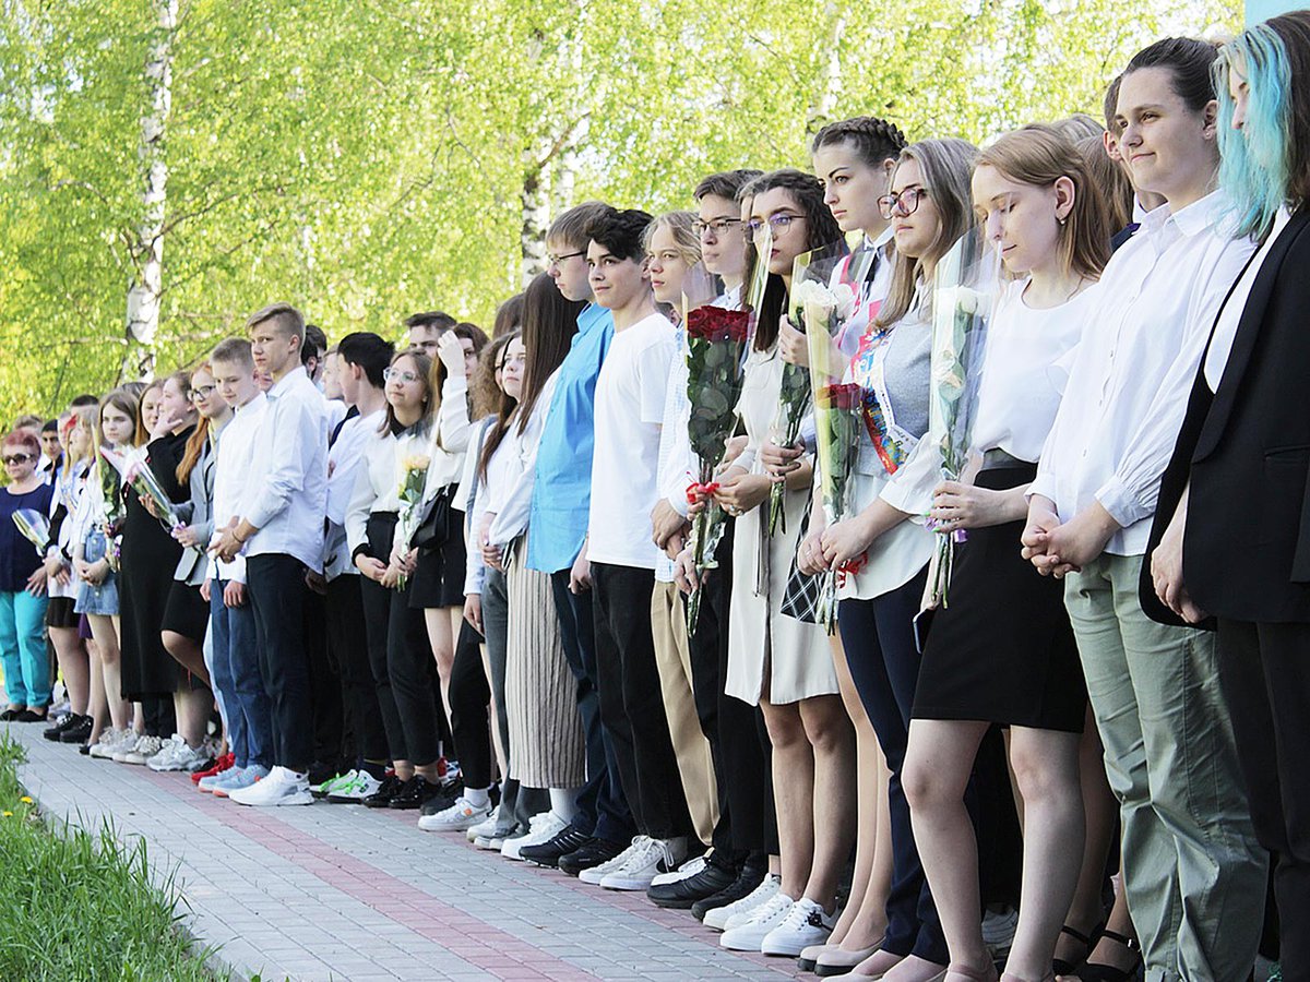
[[[850, 511], [850, 477], [859, 454], [863, 394], [858, 384], [845, 381], [848, 359], [837, 347], [842, 325], [854, 312], [855, 292], [848, 283], [829, 288], [815, 280], [802, 284], [799, 292], [810, 352], [810, 384], [815, 397], [819, 488], [828, 524], [833, 525], [848, 517]], [[816, 613], [828, 634], [837, 627], [837, 588], [855, 568], [858, 566], [848, 564], [829, 570], [824, 576]]]

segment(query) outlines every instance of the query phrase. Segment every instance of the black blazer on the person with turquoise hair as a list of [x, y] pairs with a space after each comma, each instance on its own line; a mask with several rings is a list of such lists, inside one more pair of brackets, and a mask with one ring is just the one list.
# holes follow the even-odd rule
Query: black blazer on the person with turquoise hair
[[1218, 391], [1205, 359], [1161, 481], [1140, 593], [1155, 597], [1150, 555], [1191, 481], [1183, 581], [1210, 614], [1310, 622], [1310, 209], [1293, 215], [1256, 274]]

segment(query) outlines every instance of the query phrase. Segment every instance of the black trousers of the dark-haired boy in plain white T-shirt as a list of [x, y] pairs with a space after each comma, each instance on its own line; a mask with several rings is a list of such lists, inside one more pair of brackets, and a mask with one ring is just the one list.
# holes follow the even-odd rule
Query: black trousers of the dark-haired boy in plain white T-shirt
[[655, 665], [650, 617], [655, 573], [592, 563], [591, 581], [600, 718], [614, 741], [637, 830], [655, 839], [694, 835]]

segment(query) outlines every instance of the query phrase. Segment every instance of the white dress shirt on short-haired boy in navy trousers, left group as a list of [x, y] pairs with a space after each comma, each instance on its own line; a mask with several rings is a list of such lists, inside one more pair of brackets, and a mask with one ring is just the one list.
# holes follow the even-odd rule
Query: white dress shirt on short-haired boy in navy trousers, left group
[[242, 515], [258, 532], [245, 554], [291, 555], [318, 571], [328, 505], [328, 411], [303, 367], [267, 393]]

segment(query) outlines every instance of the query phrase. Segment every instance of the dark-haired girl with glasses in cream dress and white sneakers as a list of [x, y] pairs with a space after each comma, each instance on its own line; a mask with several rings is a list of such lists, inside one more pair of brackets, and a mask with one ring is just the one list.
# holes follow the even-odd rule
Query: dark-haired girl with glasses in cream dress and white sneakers
[[[800, 537], [812, 464], [786, 478], [785, 521], [769, 533], [773, 481], [761, 450], [772, 439], [782, 389], [778, 327], [802, 253], [841, 242], [812, 174], [776, 170], [743, 191], [748, 230], [768, 225], [773, 247], [755, 344], [738, 415], [741, 456], [719, 478], [718, 503], [736, 517], [730, 613], [730, 695], [758, 704], [773, 748], [773, 792], [781, 865], [757, 890], [764, 902], [730, 918], [719, 944], [734, 951], [798, 956], [821, 944], [836, 920], [836, 890], [854, 841], [855, 741], [838, 695], [823, 627], [782, 613], [782, 594]], [[796, 284], [799, 285], [799, 284]]]

